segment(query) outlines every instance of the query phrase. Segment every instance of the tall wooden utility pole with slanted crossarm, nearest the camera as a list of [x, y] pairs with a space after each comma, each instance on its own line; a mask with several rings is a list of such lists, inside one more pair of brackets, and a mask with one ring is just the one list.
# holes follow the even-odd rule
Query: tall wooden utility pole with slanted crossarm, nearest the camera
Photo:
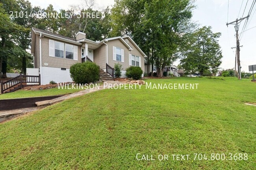
[[250, 15], [245, 16], [243, 18], [240, 19], [236, 19], [233, 22], [227, 23], [226, 26], [228, 26], [229, 24], [235, 24], [235, 31], [236, 31], [236, 51], [237, 51], [237, 71], [238, 71], [238, 79], [241, 80], [241, 65], [240, 65], [240, 46], [239, 46], [239, 37], [238, 37], [238, 31], [239, 31], [239, 23], [244, 20], [245, 18], [249, 18]]

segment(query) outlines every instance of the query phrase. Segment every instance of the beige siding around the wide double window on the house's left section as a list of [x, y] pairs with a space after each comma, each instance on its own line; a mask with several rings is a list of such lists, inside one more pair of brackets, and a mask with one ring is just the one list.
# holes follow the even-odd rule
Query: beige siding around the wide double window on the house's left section
[[[59, 40], [54, 40], [54, 41], [62, 42]], [[72, 64], [82, 62], [81, 46], [78, 46], [78, 45], [75, 45], [72, 43], [67, 43], [67, 44], [71, 44], [74, 46], [78, 46], [78, 60], [72, 60], [72, 59], [68, 59], [68, 58], [50, 57], [49, 56], [49, 38], [42, 37], [41, 43], [42, 43], [42, 65], [43, 66], [45, 66], [44, 63], [48, 63], [48, 66], [46, 66], [46, 67], [68, 68], [69, 69]], [[63, 42], [63, 43], [65, 43], [65, 42]], [[64, 48], [64, 50], [65, 50], [65, 48]], [[65, 57], [65, 55], [64, 55], [64, 57]]]

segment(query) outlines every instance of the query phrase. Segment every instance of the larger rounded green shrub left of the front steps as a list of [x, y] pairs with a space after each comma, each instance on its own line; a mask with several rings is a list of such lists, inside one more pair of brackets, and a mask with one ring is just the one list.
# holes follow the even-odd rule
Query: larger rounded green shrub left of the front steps
[[78, 84], [95, 82], [100, 79], [100, 68], [94, 62], [76, 63], [70, 67], [70, 77]]

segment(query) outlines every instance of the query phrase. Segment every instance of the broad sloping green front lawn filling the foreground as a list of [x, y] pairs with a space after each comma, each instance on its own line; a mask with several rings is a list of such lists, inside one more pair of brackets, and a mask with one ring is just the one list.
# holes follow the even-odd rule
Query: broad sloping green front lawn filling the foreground
[[[0, 169], [253, 170], [256, 83], [234, 78], [148, 79], [197, 90], [101, 90], [0, 124]], [[34, 91], [35, 92], [35, 91]], [[138, 161], [136, 154], [155, 161]], [[248, 154], [193, 160], [194, 153]], [[159, 161], [167, 154], [169, 160]], [[190, 154], [173, 161], [172, 154]], [[238, 155], [237, 154], [237, 155]]]

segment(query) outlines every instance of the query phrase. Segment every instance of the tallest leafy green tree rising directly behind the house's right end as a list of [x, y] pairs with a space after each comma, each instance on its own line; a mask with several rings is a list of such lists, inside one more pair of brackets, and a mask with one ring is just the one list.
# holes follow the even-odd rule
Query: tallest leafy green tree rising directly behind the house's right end
[[192, 16], [191, 0], [116, 0], [112, 35], [130, 35], [156, 65], [158, 77], [176, 60], [181, 36]]

